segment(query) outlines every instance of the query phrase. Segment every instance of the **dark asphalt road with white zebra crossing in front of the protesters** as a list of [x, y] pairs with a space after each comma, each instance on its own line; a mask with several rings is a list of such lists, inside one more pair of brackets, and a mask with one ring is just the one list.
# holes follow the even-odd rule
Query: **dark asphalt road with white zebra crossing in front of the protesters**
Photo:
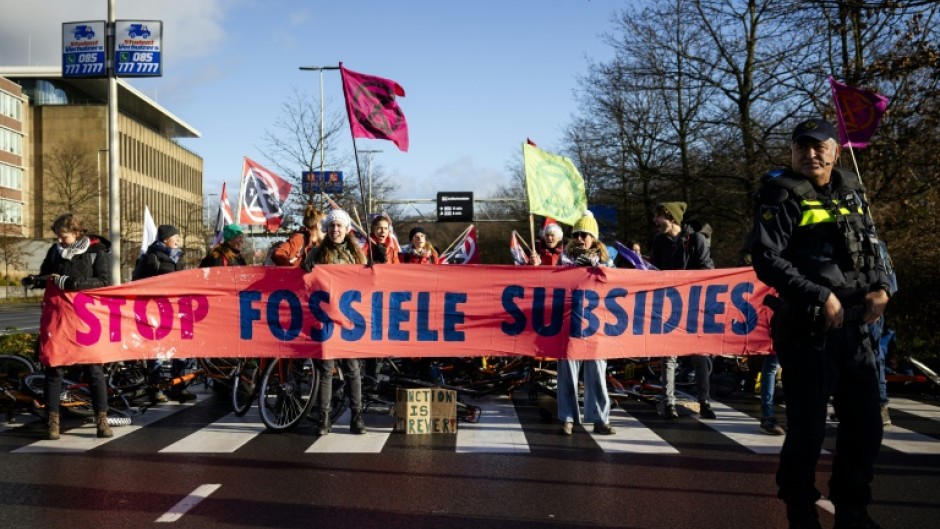
[[[759, 403], [739, 395], [718, 419], [660, 419], [626, 402], [614, 436], [566, 437], [540, 420], [554, 401], [526, 395], [478, 401], [477, 424], [456, 435], [313, 435], [312, 423], [264, 432], [211, 393], [168, 403], [97, 440], [68, 422], [42, 441], [29, 415], [0, 432], [3, 527], [179, 528], [694, 528], [782, 529], [775, 498], [782, 438], [757, 433]], [[879, 458], [872, 515], [883, 527], [936, 527], [940, 516], [940, 406], [895, 397]], [[830, 438], [826, 449], [833, 450]], [[825, 490], [831, 455], [822, 456]], [[824, 527], [832, 515], [820, 506]]]

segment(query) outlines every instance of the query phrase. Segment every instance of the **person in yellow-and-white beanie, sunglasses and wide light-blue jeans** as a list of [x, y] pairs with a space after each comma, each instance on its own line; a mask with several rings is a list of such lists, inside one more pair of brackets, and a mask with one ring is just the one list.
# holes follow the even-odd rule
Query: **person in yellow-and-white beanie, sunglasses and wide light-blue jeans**
[[[598, 240], [597, 220], [590, 211], [571, 228], [571, 242], [558, 260], [560, 266], [612, 265], [607, 247]], [[578, 409], [578, 374], [584, 372], [584, 422], [594, 424], [594, 433], [613, 435], [610, 425], [610, 396], [607, 394], [607, 360], [558, 360], [558, 419], [561, 433], [571, 435], [581, 424]]]

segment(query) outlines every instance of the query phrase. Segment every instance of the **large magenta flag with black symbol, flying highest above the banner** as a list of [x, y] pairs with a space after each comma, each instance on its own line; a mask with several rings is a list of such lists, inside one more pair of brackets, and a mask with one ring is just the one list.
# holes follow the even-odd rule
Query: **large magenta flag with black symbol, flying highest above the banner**
[[391, 79], [347, 70], [343, 63], [339, 70], [353, 138], [390, 140], [408, 152], [408, 122], [395, 102], [395, 96], [405, 96], [405, 89]]

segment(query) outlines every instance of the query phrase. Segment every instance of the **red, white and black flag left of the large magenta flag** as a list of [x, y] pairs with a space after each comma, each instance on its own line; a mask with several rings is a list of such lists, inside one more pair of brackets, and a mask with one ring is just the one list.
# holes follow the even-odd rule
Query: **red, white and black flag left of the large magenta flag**
[[284, 203], [291, 185], [283, 178], [245, 157], [242, 169], [239, 224], [259, 224], [275, 232], [284, 218]]

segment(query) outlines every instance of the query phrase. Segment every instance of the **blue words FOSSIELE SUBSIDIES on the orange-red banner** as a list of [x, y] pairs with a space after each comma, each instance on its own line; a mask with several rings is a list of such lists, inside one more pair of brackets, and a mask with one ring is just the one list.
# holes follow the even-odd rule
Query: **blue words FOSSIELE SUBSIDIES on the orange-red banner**
[[[501, 322], [500, 330], [507, 336], [530, 331], [552, 337], [561, 333], [568, 318], [568, 334], [573, 338], [588, 338], [599, 333], [616, 337], [628, 329], [633, 335], [669, 334], [680, 329], [683, 321], [686, 334], [723, 334], [730, 306], [741, 314], [741, 317], [729, 320], [731, 332], [746, 335], [759, 323], [758, 311], [748, 301], [754, 290], [754, 283], [742, 282], [712, 284], [705, 288], [693, 285], [685, 297], [675, 287], [639, 291], [631, 297], [627, 289], [616, 287], [602, 298], [596, 290], [575, 289], [569, 293], [563, 288], [553, 288], [549, 300], [545, 287], [527, 290], [520, 285], [509, 285], [501, 295], [506, 319]], [[438, 302], [440, 305], [434, 302], [438, 295], [442, 297]], [[369, 306], [363, 306], [362, 298], [363, 292], [359, 290], [339, 294], [336, 310], [348, 322], [340, 325], [339, 339], [355, 342], [368, 332], [373, 341], [466, 340], [466, 332], [462, 330], [466, 315], [460, 309], [467, 303], [466, 292], [371, 292], [367, 301]], [[413, 299], [414, 305], [411, 305]], [[314, 322], [308, 329], [309, 339], [326, 342], [333, 338], [337, 325], [327, 312], [330, 300], [329, 292], [311, 292], [306, 307], [309, 314], [305, 314], [303, 300], [291, 290], [274, 290], [267, 299], [259, 290], [241, 291], [238, 293], [239, 337], [251, 340], [254, 323], [264, 318], [263, 328], [271, 336], [280, 341], [293, 341], [303, 331], [305, 317], [312, 317]], [[632, 308], [629, 307], [630, 302], [633, 303]], [[265, 305], [263, 311], [262, 303]], [[567, 312], [566, 303], [570, 304]], [[435, 310], [442, 313], [436, 317]]]

